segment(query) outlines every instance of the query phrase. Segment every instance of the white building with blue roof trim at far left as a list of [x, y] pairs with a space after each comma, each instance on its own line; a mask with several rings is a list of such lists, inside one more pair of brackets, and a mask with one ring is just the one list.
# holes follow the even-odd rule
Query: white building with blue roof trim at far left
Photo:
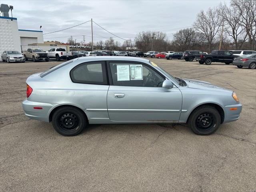
[[4, 50], [21, 52], [33, 43], [44, 43], [42, 31], [18, 29], [17, 18], [0, 16], [0, 53]]

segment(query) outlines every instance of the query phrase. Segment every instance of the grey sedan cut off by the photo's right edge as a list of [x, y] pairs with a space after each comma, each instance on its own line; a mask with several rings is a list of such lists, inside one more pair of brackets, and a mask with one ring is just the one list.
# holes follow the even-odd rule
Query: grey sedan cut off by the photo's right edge
[[249, 69], [256, 69], [256, 54], [246, 54], [234, 58], [233, 65], [238, 68], [248, 67]]

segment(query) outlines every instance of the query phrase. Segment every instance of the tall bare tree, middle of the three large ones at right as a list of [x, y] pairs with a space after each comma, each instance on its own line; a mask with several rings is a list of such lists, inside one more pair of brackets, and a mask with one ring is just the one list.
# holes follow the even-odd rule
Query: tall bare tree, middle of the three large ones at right
[[222, 19], [224, 20], [225, 34], [232, 37], [236, 50], [240, 49], [247, 39], [245, 27], [241, 25], [241, 14], [234, 5], [220, 4]]

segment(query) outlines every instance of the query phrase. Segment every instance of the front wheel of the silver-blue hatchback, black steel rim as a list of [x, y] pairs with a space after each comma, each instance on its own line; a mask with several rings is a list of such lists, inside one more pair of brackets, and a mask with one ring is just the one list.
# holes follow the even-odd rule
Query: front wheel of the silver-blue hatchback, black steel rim
[[213, 106], [203, 105], [196, 108], [188, 118], [188, 125], [198, 135], [210, 135], [220, 127], [221, 117]]

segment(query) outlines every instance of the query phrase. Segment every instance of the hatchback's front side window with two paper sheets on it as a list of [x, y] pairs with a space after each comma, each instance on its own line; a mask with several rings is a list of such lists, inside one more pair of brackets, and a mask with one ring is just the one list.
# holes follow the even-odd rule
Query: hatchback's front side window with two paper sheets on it
[[139, 63], [110, 62], [114, 86], [162, 87], [165, 78]]

